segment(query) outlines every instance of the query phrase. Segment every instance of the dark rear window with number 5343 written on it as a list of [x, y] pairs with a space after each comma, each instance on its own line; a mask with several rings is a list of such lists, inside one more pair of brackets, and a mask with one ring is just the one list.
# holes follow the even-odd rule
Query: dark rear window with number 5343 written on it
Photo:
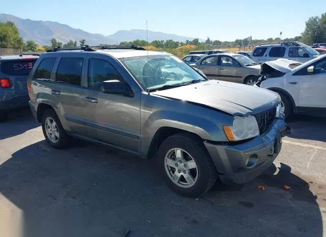
[[35, 60], [17, 60], [17, 61], [3, 61], [1, 63], [1, 71], [8, 75], [28, 75], [30, 74]]

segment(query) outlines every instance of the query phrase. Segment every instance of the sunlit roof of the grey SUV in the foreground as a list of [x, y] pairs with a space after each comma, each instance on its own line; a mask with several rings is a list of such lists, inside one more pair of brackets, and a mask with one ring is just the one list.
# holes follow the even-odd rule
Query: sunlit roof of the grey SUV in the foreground
[[133, 50], [133, 49], [97, 49], [96, 51], [84, 51], [84, 50], [64, 50], [64, 51], [57, 51], [57, 52], [47, 52], [46, 54], [52, 53], [75, 53], [75, 52], [84, 52], [84, 53], [101, 53], [111, 55], [115, 58], [124, 58], [124, 57], [139, 57], [139, 56], [152, 56], [152, 55], [172, 55], [168, 52], [161, 52], [161, 51], [149, 51], [149, 50]]

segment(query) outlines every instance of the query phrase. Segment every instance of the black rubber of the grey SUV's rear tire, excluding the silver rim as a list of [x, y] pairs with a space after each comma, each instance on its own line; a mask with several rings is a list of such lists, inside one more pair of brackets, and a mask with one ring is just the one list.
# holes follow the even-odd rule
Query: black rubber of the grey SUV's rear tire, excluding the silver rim
[[[52, 142], [48, 136], [46, 135], [45, 132], [45, 120], [47, 118], [52, 119], [53, 121], [56, 122], [57, 127], [58, 127], [58, 133], [59, 133], [59, 139], [57, 142]], [[71, 143], [71, 137], [66, 133], [66, 131], [64, 130], [64, 128], [62, 127], [62, 124], [59, 120], [59, 117], [57, 115], [57, 113], [53, 110], [53, 109], [48, 109], [43, 113], [42, 116], [42, 130], [43, 130], [43, 135], [47, 141], [47, 143], [57, 149], [64, 149], [66, 147], [68, 147]]]

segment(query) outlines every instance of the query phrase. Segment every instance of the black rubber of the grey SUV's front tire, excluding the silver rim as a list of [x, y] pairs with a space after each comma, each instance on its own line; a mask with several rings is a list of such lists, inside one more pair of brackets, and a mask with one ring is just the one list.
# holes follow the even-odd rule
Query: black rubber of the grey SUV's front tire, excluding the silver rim
[[[197, 165], [197, 181], [188, 188], [174, 184], [165, 168], [165, 156], [174, 148], [186, 151], [195, 160]], [[186, 197], [199, 197], [214, 185], [218, 174], [203, 142], [194, 135], [178, 133], [164, 140], [158, 149], [158, 161], [169, 187], [176, 193]], [[177, 172], [177, 170], [175, 170]], [[182, 174], [181, 174], [182, 175]]]

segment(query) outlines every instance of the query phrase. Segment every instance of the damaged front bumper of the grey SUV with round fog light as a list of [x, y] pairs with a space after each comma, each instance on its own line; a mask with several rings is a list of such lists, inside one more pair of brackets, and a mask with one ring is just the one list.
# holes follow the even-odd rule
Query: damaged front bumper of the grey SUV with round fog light
[[280, 153], [282, 137], [290, 133], [283, 119], [274, 121], [268, 132], [238, 145], [204, 142], [219, 177], [225, 184], [242, 184], [263, 173]]

